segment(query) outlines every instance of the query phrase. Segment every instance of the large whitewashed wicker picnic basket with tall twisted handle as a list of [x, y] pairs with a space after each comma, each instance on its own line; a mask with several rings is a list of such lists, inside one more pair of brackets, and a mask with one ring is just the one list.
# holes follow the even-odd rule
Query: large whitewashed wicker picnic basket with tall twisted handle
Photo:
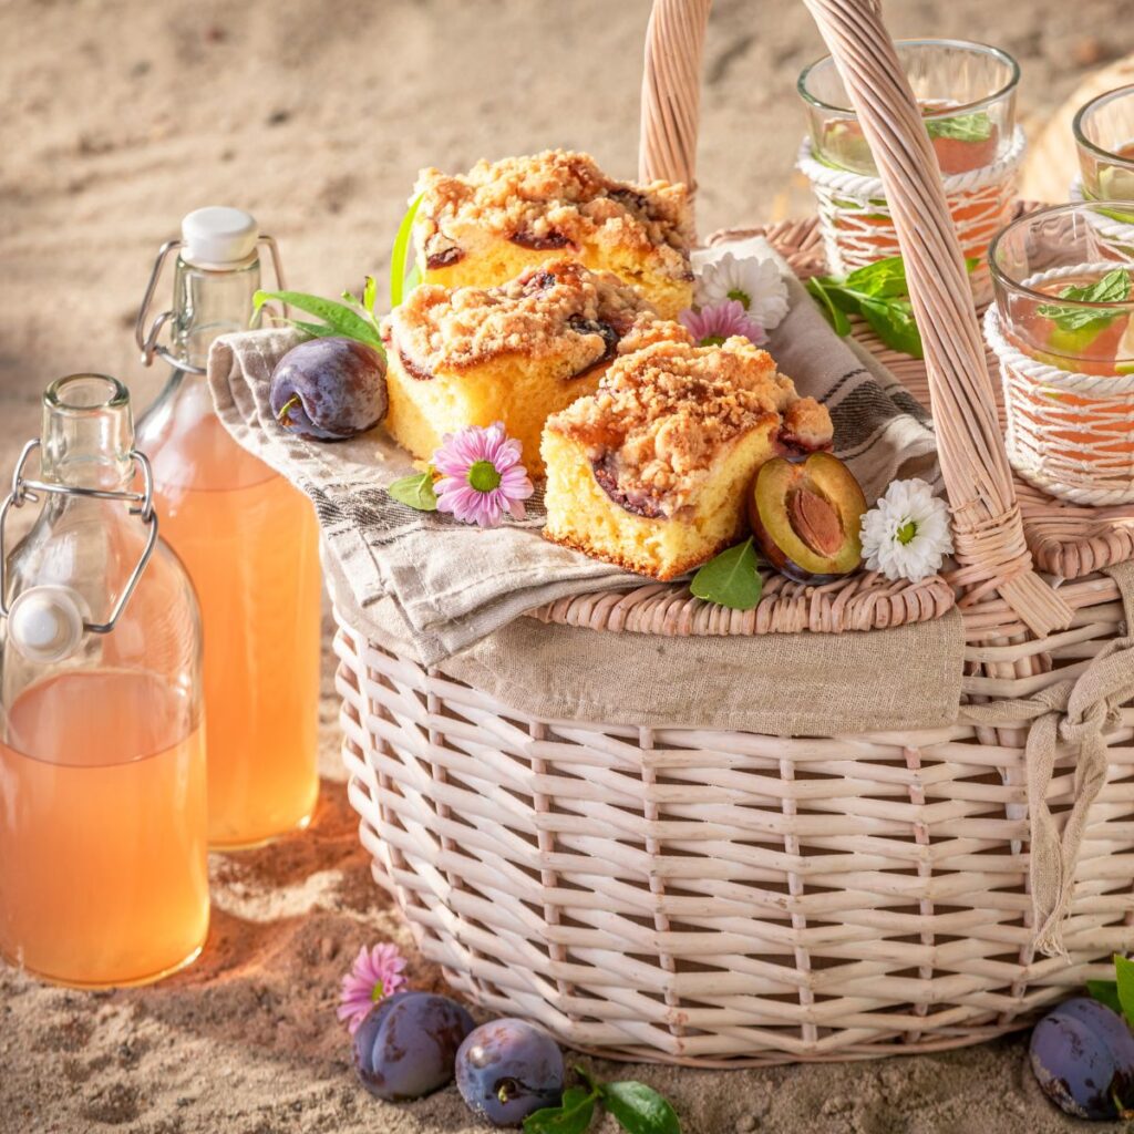
[[[878, 159], [925, 363], [863, 341], [931, 399], [957, 566], [917, 585], [775, 579], [747, 613], [671, 584], [533, 615], [756, 635], [880, 632], [956, 606], [956, 723], [789, 738], [534, 719], [338, 616], [344, 756], [375, 878], [457, 989], [611, 1057], [941, 1050], [1022, 1026], [1134, 946], [1134, 652], [1102, 574], [1134, 555], [1134, 510], [1014, 481], [933, 151], [878, 5], [806, 3]], [[708, 9], [654, 5], [645, 178], [693, 184]], [[801, 276], [823, 269], [813, 222], [764, 231]]]

